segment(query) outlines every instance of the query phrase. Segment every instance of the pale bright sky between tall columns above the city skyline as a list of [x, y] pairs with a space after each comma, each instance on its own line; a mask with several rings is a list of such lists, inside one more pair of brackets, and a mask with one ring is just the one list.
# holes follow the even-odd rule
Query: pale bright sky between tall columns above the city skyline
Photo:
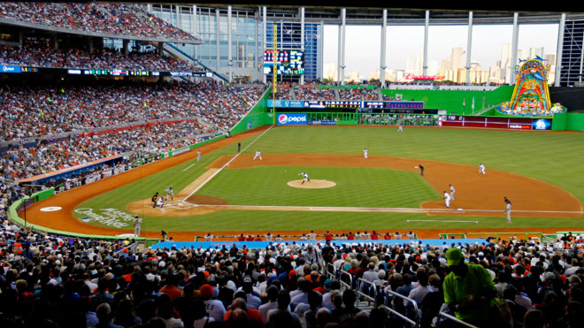
[[[380, 67], [381, 28], [373, 26], [347, 26], [345, 40], [345, 75], [358, 71], [362, 79]], [[496, 65], [501, 57], [503, 43], [511, 43], [512, 25], [473, 25], [471, 61], [479, 62], [483, 71]], [[544, 47], [544, 54], [557, 52], [558, 24], [519, 25], [519, 49]], [[337, 25], [324, 28], [324, 73], [327, 64], [336, 65], [338, 54]], [[436, 60], [439, 68], [442, 59], [450, 56], [451, 50], [461, 47], [466, 50], [467, 26], [432, 26], [428, 29], [428, 62]], [[388, 26], [386, 65], [388, 69], [404, 70], [408, 55], [424, 52], [424, 27]], [[466, 55], [465, 58], [466, 60]]]

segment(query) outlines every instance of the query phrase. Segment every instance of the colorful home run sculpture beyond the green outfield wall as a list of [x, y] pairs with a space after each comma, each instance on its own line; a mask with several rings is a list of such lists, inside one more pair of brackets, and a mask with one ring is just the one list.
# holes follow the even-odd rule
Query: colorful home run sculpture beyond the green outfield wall
[[548, 70], [541, 59], [529, 59], [520, 66], [511, 102], [502, 103], [497, 111], [522, 116], [551, 116], [565, 111], [559, 103], [551, 105]]

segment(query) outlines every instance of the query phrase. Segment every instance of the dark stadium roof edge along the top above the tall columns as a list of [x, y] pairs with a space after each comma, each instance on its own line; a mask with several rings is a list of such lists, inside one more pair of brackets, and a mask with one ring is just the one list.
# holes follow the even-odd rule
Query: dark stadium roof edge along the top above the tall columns
[[[156, 2], [152, 4], [182, 4], [187, 2]], [[226, 8], [232, 5], [234, 10], [257, 11], [260, 6], [267, 6], [267, 19], [270, 20], [300, 20], [299, 8], [304, 5], [304, 16], [307, 22], [324, 22], [326, 24], [338, 24], [341, 22], [341, 8], [347, 8], [347, 24], [378, 25], [381, 22], [381, 7], [379, 1], [305, 1], [297, 0], [286, 4], [259, 2], [254, 0], [244, 1], [203, 1], [197, 2], [201, 7]], [[546, 24], [557, 23], [562, 13], [566, 19], [584, 19], [582, 6], [549, 2], [542, 5], [526, 4], [524, 2], [510, 2], [509, 4], [493, 4], [492, 2], [448, 4], [448, 2], [433, 2], [424, 6], [423, 2], [412, 5], [418, 8], [398, 7], [400, 4], [407, 6], [410, 3], [385, 3], [389, 4], [388, 25], [424, 25], [426, 10], [430, 10], [431, 25], [465, 25], [468, 23], [468, 11], [473, 11], [473, 24], [512, 24], [513, 13], [519, 12], [519, 24]]]

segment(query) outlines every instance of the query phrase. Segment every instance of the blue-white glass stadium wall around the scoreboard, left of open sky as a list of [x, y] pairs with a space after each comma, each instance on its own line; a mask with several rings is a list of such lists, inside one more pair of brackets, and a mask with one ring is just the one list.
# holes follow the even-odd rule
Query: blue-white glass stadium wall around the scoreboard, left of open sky
[[[265, 7], [207, 7], [149, 4], [146, 10], [158, 18], [198, 35], [204, 44], [180, 44], [179, 48], [212, 70], [232, 80], [270, 80], [264, 74], [264, 51], [273, 50], [277, 35], [280, 51], [304, 51], [304, 75], [282, 75], [285, 80], [321, 80], [322, 22], [305, 23], [302, 13], [278, 14]], [[276, 25], [274, 34], [273, 26]], [[229, 28], [231, 26], [231, 28]], [[264, 33], [265, 31], [265, 33]], [[303, 37], [304, 34], [304, 37]], [[231, 56], [229, 56], [231, 53]]]

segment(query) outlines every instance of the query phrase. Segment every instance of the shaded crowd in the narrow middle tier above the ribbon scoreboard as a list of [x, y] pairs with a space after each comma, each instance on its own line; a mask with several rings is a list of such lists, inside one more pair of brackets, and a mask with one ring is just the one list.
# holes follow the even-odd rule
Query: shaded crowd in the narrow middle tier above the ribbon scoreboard
[[54, 50], [39, 47], [0, 46], [0, 63], [56, 68], [125, 69], [148, 71], [194, 72], [196, 69], [180, 59], [159, 57], [155, 53], [130, 52], [124, 55], [117, 50]]

